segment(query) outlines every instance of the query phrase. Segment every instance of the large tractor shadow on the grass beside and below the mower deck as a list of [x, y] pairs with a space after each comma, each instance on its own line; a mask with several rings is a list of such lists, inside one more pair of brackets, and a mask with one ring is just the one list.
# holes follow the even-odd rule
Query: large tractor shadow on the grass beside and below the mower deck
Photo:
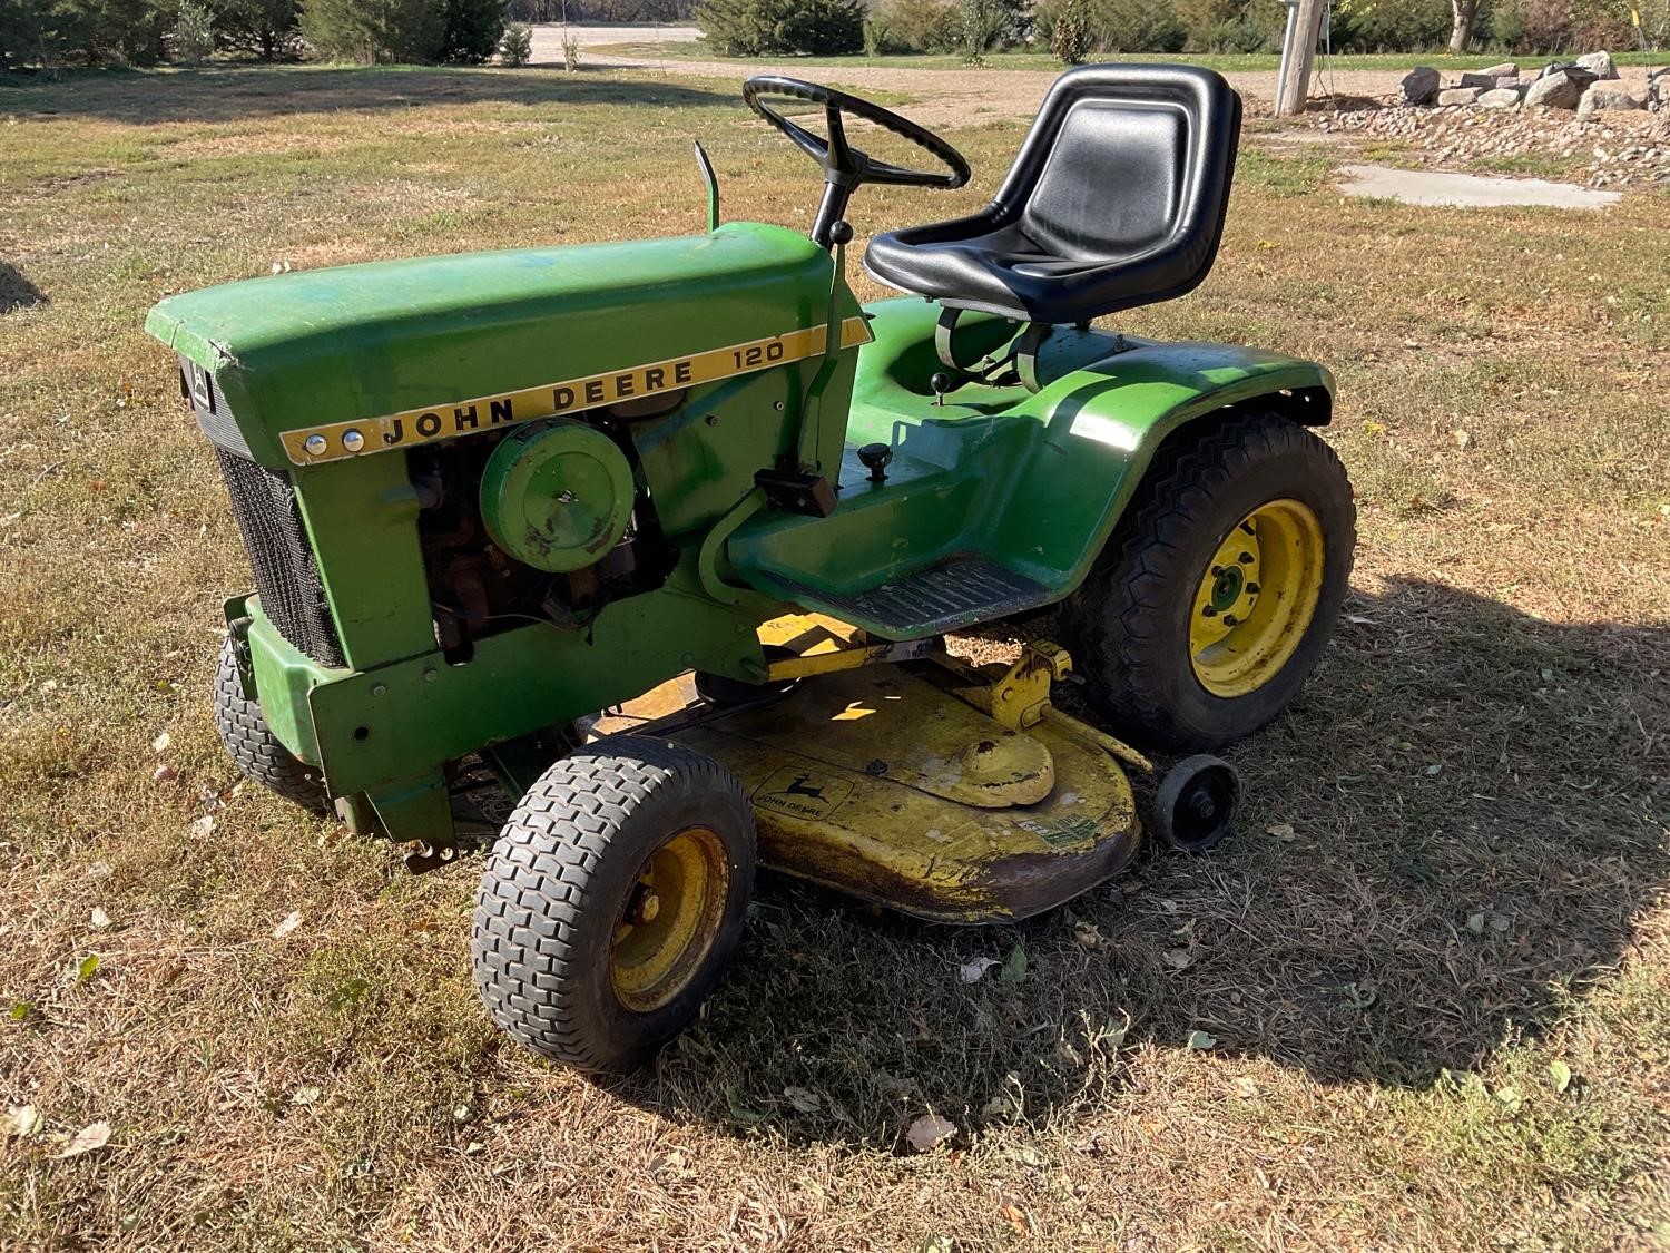
[[[1406, 1088], [1546, 1031], [1670, 870], [1670, 628], [1558, 626], [1418, 580], [1348, 615], [1299, 703], [1229, 753], [1246, 804], [1219, 852], [1147, 852], [1019, 927], [767, 880], [703, 1022], [620, 1094], [888, 1143], [925, 1108], [967, 1129], [1106, 1104], [1119, 1048], [1194, 1031]], [[1017, 946], [1019, 981], [960, 981]]]

